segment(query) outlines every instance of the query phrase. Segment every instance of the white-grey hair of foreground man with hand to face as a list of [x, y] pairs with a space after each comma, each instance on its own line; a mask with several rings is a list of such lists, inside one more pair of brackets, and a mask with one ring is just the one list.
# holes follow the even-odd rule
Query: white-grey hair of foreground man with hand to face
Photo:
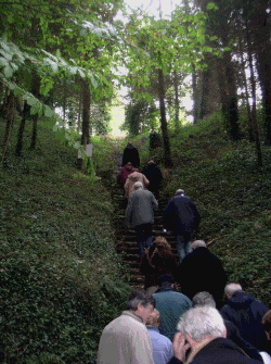
[[186, 311], [180, 318], [177, 329], [189, 335], [194, 341], [202, 342], [207, 338], [223, 337], [224, 322], [217, 309], [196, 306]]

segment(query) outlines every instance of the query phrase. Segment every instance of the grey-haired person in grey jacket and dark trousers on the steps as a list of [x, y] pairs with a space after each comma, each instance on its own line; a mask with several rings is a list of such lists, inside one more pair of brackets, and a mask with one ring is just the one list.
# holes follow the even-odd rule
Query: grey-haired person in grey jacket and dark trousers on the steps
[[125, 212], [125, 222], [128, 228], [134, 228], [137, 231], [140, 259], [142, 258], [144, 246], [147, 248], [152, 243], [154, 211], [157, 209], [158, 202], [154, 194], [149, 190], [144, 190], [142, 183], [137, 181]]

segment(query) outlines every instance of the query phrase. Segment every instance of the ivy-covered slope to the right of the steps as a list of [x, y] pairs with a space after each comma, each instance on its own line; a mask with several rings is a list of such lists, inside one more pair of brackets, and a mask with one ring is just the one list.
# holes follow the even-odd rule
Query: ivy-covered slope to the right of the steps
[[244, 137], [231, 142], [219, 120], [188, 126], [171, 139], [175, 167], [164, 189], [183, 188], [202, 213], [197, 238], [211, 242], [229, 275], [271, 307], [271, 150]]

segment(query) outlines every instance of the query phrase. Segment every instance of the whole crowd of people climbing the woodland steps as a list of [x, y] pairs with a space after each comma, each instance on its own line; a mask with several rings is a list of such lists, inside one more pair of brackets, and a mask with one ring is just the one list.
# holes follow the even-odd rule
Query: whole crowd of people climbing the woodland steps
[[271, 364], [271, 310], [229, 283], [204, 240], [194, 240], [201, 214], [183, 189], [164, 211], [178, 258], [164, 236], [152, 237], [163, 175], [153, 160], [141, 174], [128, 143], [117, 176], [127, 199], [126, 225], [137, 231], [144, 289], [103, 329], [98, 364]]

